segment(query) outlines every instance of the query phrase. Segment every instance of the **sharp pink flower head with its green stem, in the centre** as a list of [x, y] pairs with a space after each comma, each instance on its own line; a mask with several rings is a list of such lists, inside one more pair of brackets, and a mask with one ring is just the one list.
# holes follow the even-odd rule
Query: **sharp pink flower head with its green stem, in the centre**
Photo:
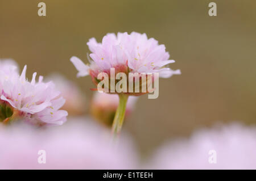
[[[180, 70], [174, 71], [166, 68], [166, 65], [175, 62], [169, 60], [170, 55], [166, 52], [166, 47], [159, 45], [158, 41], [153, 38], [148, 39], [145, 33], [132, 32], [129, 35], [125, 32], [118, 33], [117, 36], [114, 33], [108, 33], [103, 37], [102, 43], [97, 43], [96, 39], [92, 38], [87, 45], [92, 52], [90, 54], [92, 58], [90, 65], [85, 65], [77, 57], [72, 57], [71, 62], [79, 71], [77, 77], [90, 75], [97, 86], [101, 85], [101, 82], [107, 78], [104, 91], [119, 95], [119, 106], [112, 127], [114, 134], [121, 131], [129, 95], [147, 94], [151, 91], [148, 90], [148, 86], [151, 85], [152, 89], [152, 82], [155, 81], [155, 78], [168, 78], [173, 74], [180, 74]], [[118, 77], [117, 79], [122, 77], [121, 83], [116, 81], [115, 77]], [[154, 81], [152, 81], [152, 78]], [[134, 83], [136, 79], [138, 84]], [[135, 86], [130, 89], [130, 85]], [[115, 90], [118, 86], [118, 90]], [[143, 91], [145, 86], [147, 86], [147, 90], [144, 89]]]

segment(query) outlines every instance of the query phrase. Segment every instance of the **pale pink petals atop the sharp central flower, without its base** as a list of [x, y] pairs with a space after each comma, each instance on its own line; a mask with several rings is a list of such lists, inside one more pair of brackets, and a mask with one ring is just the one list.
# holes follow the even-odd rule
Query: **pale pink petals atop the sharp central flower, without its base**
[[94, 73], [108, 72], [110, 68], [118, 71], [123, 66], [130, 72], [159, 73], [159, 77], [168, 78], [180, 74], [180, 70], [171, 70], [166, 65], [175, 62], [169, 60], [169, 53], [164, 45], [159, 45], [153, 38], [148, 39], [145, 33], [108, 33], [102, 43], [92, 38], [87, 43], [90, 53], [90, 65], [85, 65], [79, 58], [72, 57], [71, 61], [79, 71], [78, 77]]

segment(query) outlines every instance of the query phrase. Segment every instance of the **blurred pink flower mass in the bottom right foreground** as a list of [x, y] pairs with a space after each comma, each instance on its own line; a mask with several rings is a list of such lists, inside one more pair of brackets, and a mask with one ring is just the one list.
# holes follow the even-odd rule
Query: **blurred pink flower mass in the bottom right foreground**
[[[148, 169], [256, 169], [256, 127], [203, 129], [162, 146]], [[216, 156], [216, 157], [215, 157]], [[209, 162], [210, 159], [210, 162]], [[216, 161], [216, 163], [214, 163]]]

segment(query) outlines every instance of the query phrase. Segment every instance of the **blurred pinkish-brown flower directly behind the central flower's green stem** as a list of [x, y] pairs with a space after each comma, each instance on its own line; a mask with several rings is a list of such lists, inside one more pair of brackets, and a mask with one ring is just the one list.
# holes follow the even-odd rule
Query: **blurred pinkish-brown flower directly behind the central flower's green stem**
[[[133, 111], [137, 99], [138, 96], [129, 96], [126, 105], [126, 117]], [[96, 120], [111, 126], [118, 104], [118, 95], [96, 92], [93, 96], [92, 103], [90, 104], [90, 111]]]

